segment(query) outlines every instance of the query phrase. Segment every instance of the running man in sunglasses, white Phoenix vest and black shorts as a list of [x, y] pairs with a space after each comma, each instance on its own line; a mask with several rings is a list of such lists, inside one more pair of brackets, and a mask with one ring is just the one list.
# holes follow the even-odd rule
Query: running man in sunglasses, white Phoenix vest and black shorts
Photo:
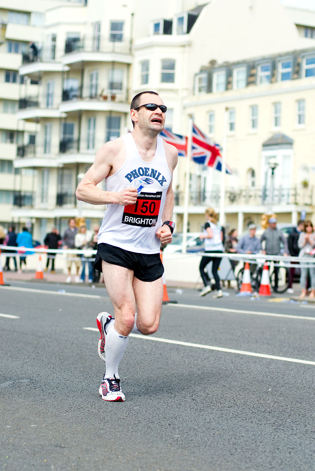
[[[160, 244], [170, 244], [177, 149], [158, 136], [166, 106], [147, 91], [131, 101], [133, 131], [106, 142], [76, 190], [78, 200], [107, 204], [98, 232], [95, 267], [103, 272], [114, 318], [97, 316], [98, 354], [106, 357], [99, 393], [105, 401], [124, 401], [118, 366], [129, 333], [149, 335], [160, 322], [164, 271]], [[106, 181], [106, 190], [97, 184]]]

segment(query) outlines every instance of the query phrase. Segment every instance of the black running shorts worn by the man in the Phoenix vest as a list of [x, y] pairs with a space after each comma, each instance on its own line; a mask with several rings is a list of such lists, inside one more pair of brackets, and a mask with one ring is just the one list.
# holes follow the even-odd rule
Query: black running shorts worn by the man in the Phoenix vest
[[98, 244], [94, 267], [102, 271], [102, 260], [113, 265], [129, 268], [141, 281], [155, 281], [164, 273], [159, 253], [136, 253], [110, 244]]

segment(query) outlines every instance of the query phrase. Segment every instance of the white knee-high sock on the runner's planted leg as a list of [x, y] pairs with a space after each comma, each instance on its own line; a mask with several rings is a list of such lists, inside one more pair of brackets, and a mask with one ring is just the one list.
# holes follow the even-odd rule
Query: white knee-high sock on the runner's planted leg
[[106, 335], [105, 341], [105, 357], [106, 357], [106, 371], [104, 378], [113, 378], [113, 375], [118, 374], [118, 366], [121, 362], [123, 354], [128, 347], [129, 337], [124, 337], [118, 333], [113, 327]]

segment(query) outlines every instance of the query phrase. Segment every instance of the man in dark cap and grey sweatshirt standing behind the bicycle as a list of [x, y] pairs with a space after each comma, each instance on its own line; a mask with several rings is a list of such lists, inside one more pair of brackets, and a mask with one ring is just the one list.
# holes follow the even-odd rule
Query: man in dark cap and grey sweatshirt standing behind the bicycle
[[[288, 255], [288, 244], [283, 233], [277, 229], [277, 220], [275, 218], [268, 219], [269, 227], [265, 230], [263, 235], [260, 238], [260, 243], [262, 244], [265, 241], [266, 246], [265, 250], [262, 253], [266, 255], [280, 255], [281, 254], [281, 244], [284, 245], [284, 256]], [[275, 264], [278, 263], [275, 261]], [[275, 287], [274, 290], [277, 291], [279, 281], [279, 267], [275, 266]]]

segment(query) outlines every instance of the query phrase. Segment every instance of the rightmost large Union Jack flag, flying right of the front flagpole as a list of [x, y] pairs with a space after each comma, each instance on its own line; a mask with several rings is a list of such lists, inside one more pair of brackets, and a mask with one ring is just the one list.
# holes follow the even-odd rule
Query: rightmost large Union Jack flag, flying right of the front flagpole
[[[218, 144], [208, 138], [195, 124], [193, 124], [192, 157], [196, 163], [222, 171], [222, 156]], [[226, 173], [232, 173], [228, 165], [226, 165]]]

